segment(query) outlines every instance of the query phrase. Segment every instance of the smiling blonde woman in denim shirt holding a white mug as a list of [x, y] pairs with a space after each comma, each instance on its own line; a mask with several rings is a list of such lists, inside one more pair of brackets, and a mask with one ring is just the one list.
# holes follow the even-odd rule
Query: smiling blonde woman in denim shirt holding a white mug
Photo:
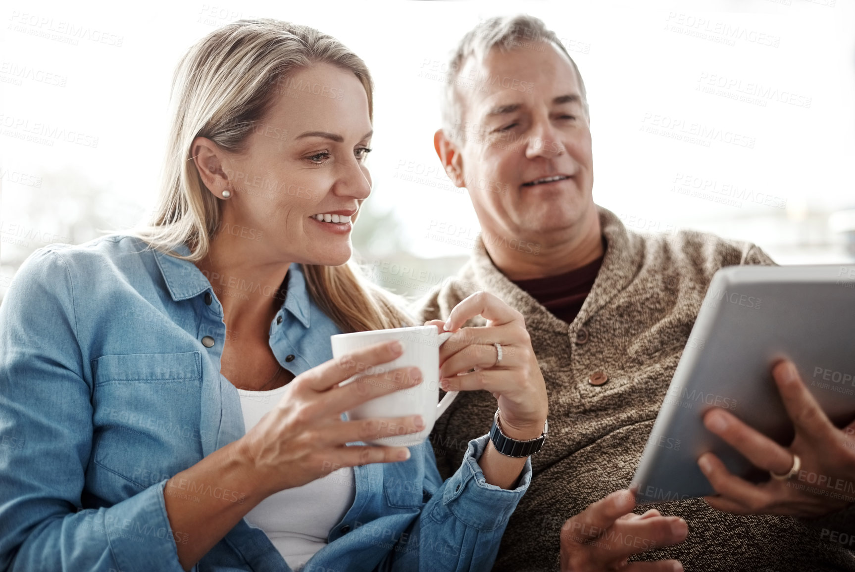
[[[421, 380], [339, 386], [394, 344], [331, 359], [333, 333], [408, 323], [345, 263], [371, 189], [368, 69], [312, 28], [239, 21], [173, 87], [151, 224], [36, 251], [0, 307], [0, 569], [489, 569], [528, 457], [485, 436], [442, 482], [427, 442], [363, 445], [417, 416], [341, 417]], [[457, 330], [477, 314], [488, 331]], [[478, 295], [452, 320], [444, 386], [491, 391], [502, 431], [538, 438], [522, 316]]]

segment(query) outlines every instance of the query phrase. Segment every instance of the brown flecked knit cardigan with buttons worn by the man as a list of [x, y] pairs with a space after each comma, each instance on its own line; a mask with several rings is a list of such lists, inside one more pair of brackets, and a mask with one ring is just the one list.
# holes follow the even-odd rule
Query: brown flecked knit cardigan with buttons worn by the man
[[[531, 486], [510, 517], [494, 570], [559, 568], [563, 522], [629, 486], [712, 275], [723, 266], [775, 263], [748, 243], [628, 232], [610, 211], [599, 215], [608, 241], [603, 266], [570, 324], [508, 280], [482, 243], [454, 280], [417, 303], [416, 314], [428, 320], [445, 319], [477, 290], [502, 298], [526, 316], [546, 381], [549, 437], [532, 457]], [[588, 378], [598, 371], [608, 381], [594, 386]], [[443, 477], [460, 465], [469, 439], [487, 432], [495, 410], [490, 393], [463, 392], [439, 418], [432, 440]], [[735, 516], [700, 498], [642, 508], [683, 517], [689, 536], [641, 559], [678, 558], [698, 572], [855, 570], [852, 552], [822, 534], [826, 526], [840, 531], [842, 522]]]

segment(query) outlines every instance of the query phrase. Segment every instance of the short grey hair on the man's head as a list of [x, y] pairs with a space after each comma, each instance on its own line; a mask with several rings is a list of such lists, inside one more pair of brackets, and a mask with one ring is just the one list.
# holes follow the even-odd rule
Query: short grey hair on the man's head
[[[588, 116], [587, 93], [585, 82], [576, 67], [576, 62], [570, 57], [567, 49], [562, 44], [555, 32], [546, 27], [540, 18], [521, 14], [515, 16], [495, 16], [481, 21], [476, 27], [467, 32], [457, 44], [457, 50], [451, 56], [448, 71], [445, 74], [445, 85], [443, 86], [443, 97], [441, 99], [442, 128], [445, 136], [449, 139], [459, 139], [458, 135], [463, 125], [463, 97], [461, 90], [457, 89], [459, 83], [464, 89], [484, 89], [490, 78], [478, 77], [475, 80], [459, 78], [460, 71], [469, 57], [475, 57], [482, 61], [493, 48], [510, 51], [518, 49], [538, 50], [543, 42], [553, 44], [561, 50], [576, 73], [579, 80], [579, 91], [582, 108], [585, 116]], [[540, 44], [540, 46], [539, 46]]]

